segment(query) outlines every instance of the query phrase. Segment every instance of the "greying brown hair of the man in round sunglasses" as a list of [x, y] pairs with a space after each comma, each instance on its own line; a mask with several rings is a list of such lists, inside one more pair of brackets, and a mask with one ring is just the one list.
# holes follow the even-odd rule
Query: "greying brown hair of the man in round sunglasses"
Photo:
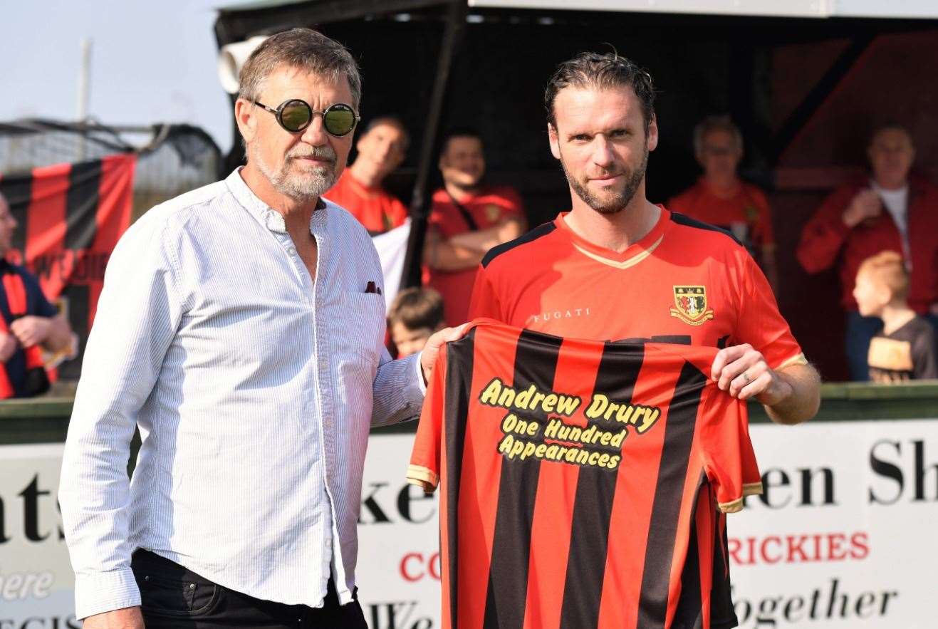
[[[291, 28], [266, 38], [241, 68], [238, 98], [259, 100], [268, 76], [282, 66], [304, 69], [339, 81], [345, 77], [352, 91], [352, 106], [361, 103], [358, 64], [345, 46], [310, 28]], [[265, 103], [276, 107], [279, 102]]]

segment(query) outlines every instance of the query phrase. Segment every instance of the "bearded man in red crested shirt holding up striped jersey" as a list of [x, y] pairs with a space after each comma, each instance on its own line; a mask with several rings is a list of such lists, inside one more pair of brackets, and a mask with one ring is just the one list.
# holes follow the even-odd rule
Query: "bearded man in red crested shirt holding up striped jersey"
[[[580, 54], [557, 69], [548, 134], [572, 208], [484, 257], [469, 316], [583, 339], [721, 347], [709, 370], [720, 390], [756, 399], [776, 422], [804, 422], [820, 404], [820, 378], [746, 248], [645, 198], [654, 95], [648, 73], [616, 54]], [[595, 495], [583, 478], [578, 497]], [[619, 604], [602, 595], [614, 584], [595, 557], [568, 566], [568, 578], [596, 584], [584, 605], [600, 614]], [[718, 587], [725, 575], [714, 566]], [[709, 603], [711, 627], [735, 626], [729, 600], [724, 583]]]

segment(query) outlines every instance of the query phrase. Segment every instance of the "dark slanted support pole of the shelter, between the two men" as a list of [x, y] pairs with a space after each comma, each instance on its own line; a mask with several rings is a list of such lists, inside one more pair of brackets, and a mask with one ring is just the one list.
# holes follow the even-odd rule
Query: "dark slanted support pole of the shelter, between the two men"
[[453, 56], [459, 48], [468, 12], [466, 0], [450, 0], [446, 16], [446, 30], [440, 50], [440, 60], [436, 67], [436, 79], [427, 113], [426, 134], [420, 146], [420, 161], [417, 164], [414, 195], [411, 200], [411, 233], [407, 240], [407, 254], [404, 257], [404, 269], [401, 276], [401, 288], [420, 285], [420, 268], [423, 261], [423, 243], [427, 235], [427, 217], [430, 215], [430, 174], [435, 163], [439, 144], [440, 123], [443, 118], [443, 105], [446, 102], [446, 84]]

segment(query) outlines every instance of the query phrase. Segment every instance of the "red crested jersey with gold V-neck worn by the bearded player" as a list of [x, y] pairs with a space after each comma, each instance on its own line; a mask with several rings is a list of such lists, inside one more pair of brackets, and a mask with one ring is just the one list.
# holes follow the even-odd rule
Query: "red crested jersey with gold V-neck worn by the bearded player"
[[[598, 341], [649, 339], [723, 347], [749, 343], [768, 365], [806, 363], [758, 265], [732, 235], [660, 207], [658, 222], [621, 253], [580, 238], [567, 213], [492, 249], [479, 268], [469, 318]], [[725, 517], [698, 511], [715, 539], [714, 627], [738, 624], [730, 595]]]

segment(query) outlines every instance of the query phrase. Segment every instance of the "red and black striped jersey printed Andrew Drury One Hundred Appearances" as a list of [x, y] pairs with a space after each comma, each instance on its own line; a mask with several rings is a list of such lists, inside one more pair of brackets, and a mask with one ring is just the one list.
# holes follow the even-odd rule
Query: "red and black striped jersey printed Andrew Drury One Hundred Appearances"
[[762, 491], [716, 352], [491, 320], [446, 345], [408, 468], [440, 484], [444, 627], [710, 626], [710, 507]]

